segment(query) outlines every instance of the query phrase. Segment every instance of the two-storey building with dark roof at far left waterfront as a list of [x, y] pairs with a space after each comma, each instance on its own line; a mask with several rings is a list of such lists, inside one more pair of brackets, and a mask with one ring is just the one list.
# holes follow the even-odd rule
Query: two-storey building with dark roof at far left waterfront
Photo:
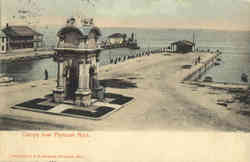
[[37, 50], [42, 47], [43, 35], [28, 26], [9, 26], [2, 29], [1, 52], [20, 49]]

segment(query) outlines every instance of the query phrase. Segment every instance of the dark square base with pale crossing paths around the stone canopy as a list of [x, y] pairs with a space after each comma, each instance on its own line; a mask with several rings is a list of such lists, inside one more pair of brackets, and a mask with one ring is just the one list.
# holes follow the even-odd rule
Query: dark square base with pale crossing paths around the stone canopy
[[92, 99], [90, 106], [83, 107], [74, 105], [74, 101], [72, 100], [65, 100], [63, 103], [52, 102], [53, 95], [48, 95], [44, 98], [37, 98], [17, 104], [12, 108], [51, 115], [100, 120], [123, 108], [132, 100], [133, 97], [105, 93], [105, 101]]

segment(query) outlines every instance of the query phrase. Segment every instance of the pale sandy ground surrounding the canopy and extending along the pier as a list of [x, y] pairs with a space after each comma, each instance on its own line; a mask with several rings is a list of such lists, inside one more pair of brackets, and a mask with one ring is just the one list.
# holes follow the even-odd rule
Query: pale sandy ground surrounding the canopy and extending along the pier
[[[202, 61], [211, 57], [211, 54], [200, 55]], [[218, 99], [231, 98], [230, 94], [180, 82], [192, 70], [184, 70], [181, 66], [192, 64], [194, 57], [197, 54], [155, 54], [103, 67], [101, 80], [117, 79], [128, 83], [123, 87], [110, 86], [106, 90], [135, 100], [98, 121], [10, 109], [15, 104], [52, 92], [56, 85], [53, 79], [0, 87], [0, 128], [249, 131], [249, 117], [216, 104]]]

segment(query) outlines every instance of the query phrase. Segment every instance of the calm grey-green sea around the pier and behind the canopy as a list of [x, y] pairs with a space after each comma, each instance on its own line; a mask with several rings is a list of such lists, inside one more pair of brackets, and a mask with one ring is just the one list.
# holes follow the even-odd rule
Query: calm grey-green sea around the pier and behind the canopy
[[[53, 48], [59, 27], [37, 30], [44, 34], [46, 48]], [[210, 69], [201, 80], [206, 76], [211, 76], [216, 82], [249, 84], [242, 82], [241, 74], [246, 73], [250, 77], [250, 31], [142, 28], [101, 28], [101, 31], [100, 40], [105, 40], [113, 33], [126, 33], [129, 37], [134, 32], [141, 47], [140, 50], [127, 48], [104, 50], [101, 53], [102, 66], [108, 64], [106, 61], [108, 58], [134, 55], [145, 49], [166, 48], [171, 42], [178, 40], [193, 41], [193, 35], [195, 35], [196, 47], [199, 50], [222, 52], [220, 65]], [[48, 70], [49, 78], [56, 78], [57, 65], [51, 58], [18, 63], [0, 61], [0, 73], [13, 77], [17, 82], [42, 80], [45, 69]]]

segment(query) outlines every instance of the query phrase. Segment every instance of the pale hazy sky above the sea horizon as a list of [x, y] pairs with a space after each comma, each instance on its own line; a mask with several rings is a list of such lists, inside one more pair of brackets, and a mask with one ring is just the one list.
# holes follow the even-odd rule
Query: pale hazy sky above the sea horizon
[[2, 23], [23, 22], [17, 11], [27, 1], [38, 4], [38, 25], [87, 15], [100, 27], [250, 30], [250, 0], [2, 0]]

